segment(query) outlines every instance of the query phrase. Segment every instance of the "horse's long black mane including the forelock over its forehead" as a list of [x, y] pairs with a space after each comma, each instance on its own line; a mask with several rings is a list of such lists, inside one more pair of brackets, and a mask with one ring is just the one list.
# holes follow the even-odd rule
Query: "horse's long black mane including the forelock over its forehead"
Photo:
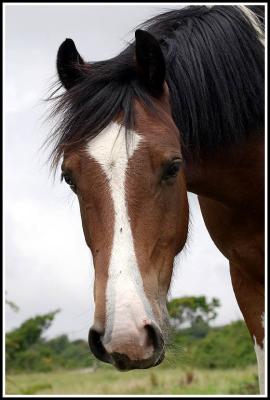
[[[261, 8], [255, 8], [263, 21]], [[186, 154], [261, 134], [264, 46], [238, 7], [190, 6], [158, 15], [142, 28], [162, 47], [173, 118]], [[53, 110], [61, 115], [49, 138], [54, 165], [66, 145], [84, 144], [120, 112], [126, 128], [132, 128], [134, 98], [154, 111], [154, 99], [136, 74], [134, 43], [82, 72], [85, 78], [58, 96]]]

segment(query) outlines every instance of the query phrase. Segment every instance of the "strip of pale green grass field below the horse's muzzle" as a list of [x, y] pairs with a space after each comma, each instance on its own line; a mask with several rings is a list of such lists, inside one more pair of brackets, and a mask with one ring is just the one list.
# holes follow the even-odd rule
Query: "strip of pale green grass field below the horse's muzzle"
[[259, 394], [257, 367], [194, 370], [180, 367], [118, 372], [112, 367], [13, 374], [6, 394]]

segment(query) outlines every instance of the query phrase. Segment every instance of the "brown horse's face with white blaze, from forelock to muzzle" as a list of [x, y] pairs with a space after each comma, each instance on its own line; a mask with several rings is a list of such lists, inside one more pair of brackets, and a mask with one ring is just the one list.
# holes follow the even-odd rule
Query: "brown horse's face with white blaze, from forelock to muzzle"
[[89, 343], [119, 369], [162, 360], [173, 260], [186, 241], [188, 203], [179, 133], [137, 103], [135, 130], [112, 122], [83, 151], [65, 154], [95, 267]]

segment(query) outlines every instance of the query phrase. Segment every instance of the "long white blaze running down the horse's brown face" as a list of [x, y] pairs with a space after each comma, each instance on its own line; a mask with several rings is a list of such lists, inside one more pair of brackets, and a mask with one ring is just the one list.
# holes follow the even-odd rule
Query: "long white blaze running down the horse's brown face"
[[[108, 343], [111, 338], [121, 340], [124, 332], [137, 333], [143, 321], [153, 319], [137, 264], [125, 193], [128, 163], [142, 138], [134, 131], [129, 131], [128, 135], [127, 148], [124, 128], [111, 123], [89, 142], [87, 148], [108, 178], [114, 207], [114, 236], [106, 288], [104, 339]], [[145, 358], [148, 356], [146, 354]]]

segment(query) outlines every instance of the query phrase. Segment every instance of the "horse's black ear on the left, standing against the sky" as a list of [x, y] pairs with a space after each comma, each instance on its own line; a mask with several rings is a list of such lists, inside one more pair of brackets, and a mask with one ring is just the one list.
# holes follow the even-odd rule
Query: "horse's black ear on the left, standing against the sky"
[[78, 68], [84, 61], [78, 53], [72, 39], [66, 39], [59, 47], [57, 53], [57, 72], [60, 81], [66, 89], [70, 89], [81, 78], [82, 73]]

